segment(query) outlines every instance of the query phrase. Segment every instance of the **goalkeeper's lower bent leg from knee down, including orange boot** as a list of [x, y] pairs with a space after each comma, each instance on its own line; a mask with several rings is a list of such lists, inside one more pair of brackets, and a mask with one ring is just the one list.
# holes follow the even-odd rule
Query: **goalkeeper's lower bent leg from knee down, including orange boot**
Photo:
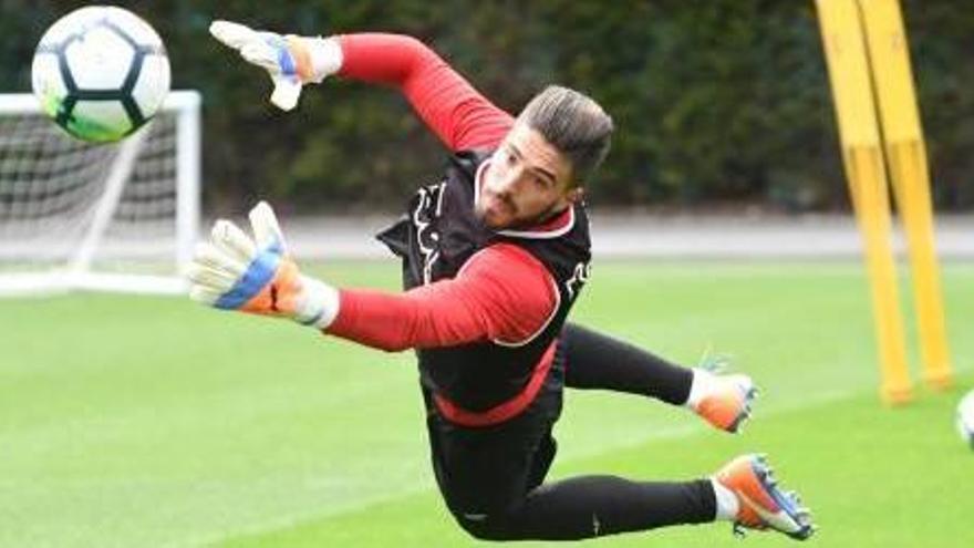
[[784, 492], [756, 455], [743, 455], [715, 478], [633, 482], [582, 476], [546, 484], [498, 511], [454, 511], [460, 526], [485, 540], [579, 540], [672, 525], [733, 521], [797, 540], [815, 533], [795, 492]]

